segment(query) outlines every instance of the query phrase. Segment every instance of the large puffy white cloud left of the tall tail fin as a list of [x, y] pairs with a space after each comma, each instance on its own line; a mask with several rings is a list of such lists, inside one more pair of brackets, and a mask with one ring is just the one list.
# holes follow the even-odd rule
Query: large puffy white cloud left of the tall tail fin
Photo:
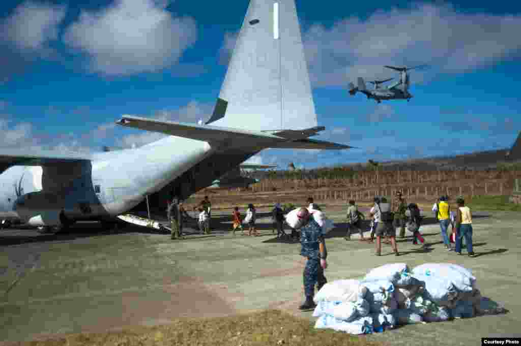
[[177, 62], [197, 37], [192, 18], [173, 18], [167, 2], [117, 0], [97, 13], [82, 12], [64, 42], [92, 57], [91, 70], [106, 75], [153, 72]]

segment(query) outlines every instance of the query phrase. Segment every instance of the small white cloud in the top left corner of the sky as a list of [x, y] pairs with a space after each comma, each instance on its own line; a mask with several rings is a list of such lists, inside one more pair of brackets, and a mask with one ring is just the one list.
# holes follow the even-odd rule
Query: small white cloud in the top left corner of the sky
[[26, 2], [15, 9], [2, 31], [5, 39], [19, 48], [38, 50], [49, 41], [58, 39], [58, 25], [65, 17], [63, 6], [52, 6]]

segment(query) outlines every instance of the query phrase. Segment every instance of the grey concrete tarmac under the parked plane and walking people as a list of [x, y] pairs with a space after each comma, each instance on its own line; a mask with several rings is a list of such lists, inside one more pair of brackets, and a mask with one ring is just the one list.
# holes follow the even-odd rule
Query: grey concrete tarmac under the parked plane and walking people
[[[446, 251], [437, 224], [420, 230], [430, 244], [426, 252], [411, 244], [408, 233], [399, 239], [400, 257], [394, 257], [388, 245], [383, 245], [381, 257], [375, 257], [374, 245], [357, 241], [357, 235], [351, 241], [343, 238], [345, 210], [323, 210], [339, 225], [326, 240], [329, 281], [361, 278], [386, 263], [411, 267], [458, 263], [473, 271], [484, 297], [509, 310], [504, 315], [407, 325], [368, 336], [371, 340], [395, 345], [468, 345], [480, 343], [481, 337], [518, 331], [518, 213], [475, 213], [476, 258]], [[198, 235], [187, 227], [188, 235], [182, 240], [137, 226], [109, 232], [97, 223], [80, 223], [64, 235], [0, 230], [0, 294], [8, 291], [0, 301], [0, 340], [37, 340], [267, 308], [314, 321], [311, 312], [297, 310], [303, 299], [305, 263], [299, 255], [300, 244], [278, 239], [269, 217], [257, 220], [261, 236], [249, 237], [240, 231], [232, 235], [229, 214], [214, 211], [212, 234]]]

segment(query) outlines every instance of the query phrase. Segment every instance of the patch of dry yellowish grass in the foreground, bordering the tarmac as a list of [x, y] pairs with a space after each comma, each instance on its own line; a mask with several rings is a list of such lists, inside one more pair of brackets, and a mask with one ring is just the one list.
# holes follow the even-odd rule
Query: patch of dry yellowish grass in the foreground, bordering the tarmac
[[329, 346], [382, 345], [333, 330], [314, 329], [309, 319], [267, 310], [230, 317], [177, 319], [169, 325], [137, 327], [117, 332], [81, 334], [46, 341], [16, 343], [31, 346]]

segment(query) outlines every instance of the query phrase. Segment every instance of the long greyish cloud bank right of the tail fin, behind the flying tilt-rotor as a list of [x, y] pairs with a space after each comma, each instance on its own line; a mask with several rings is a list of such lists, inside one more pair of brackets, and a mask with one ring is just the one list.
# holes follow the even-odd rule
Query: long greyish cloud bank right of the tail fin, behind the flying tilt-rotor
[[394, 75], [383, 65], [416, 66], [412, 82], [461, 73], [520, 56], [521, 16], [458, 13], [448, 4], [377, 11], [367, 20], [345, 18], [303, 34], [315, 86], [345, 85], [358, 76]]

